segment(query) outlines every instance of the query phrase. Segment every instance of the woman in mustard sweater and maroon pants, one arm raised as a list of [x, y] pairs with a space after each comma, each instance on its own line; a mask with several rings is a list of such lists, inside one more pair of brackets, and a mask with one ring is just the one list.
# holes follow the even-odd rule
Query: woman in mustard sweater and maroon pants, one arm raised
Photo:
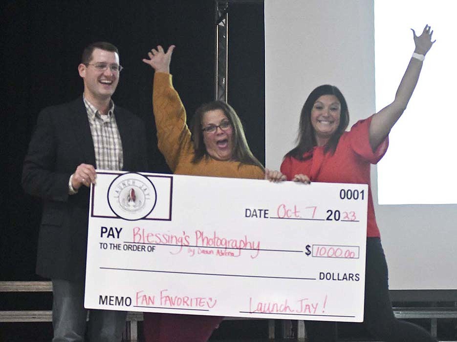
[[[213, 101], [196, 110], [192, 133], [186, 111], [173, 87], [170, 61], [174, 45], [159, 45], [143, 61], [155, 70], [152, 103], [160, 152], [174, 174], [264, 179], [264, 168], [253, 156], [235, 110]], [[192, 137], [192, 139], [191, 139]], [[146, 342], [205, 342], [222, 317], [144, 314]]]

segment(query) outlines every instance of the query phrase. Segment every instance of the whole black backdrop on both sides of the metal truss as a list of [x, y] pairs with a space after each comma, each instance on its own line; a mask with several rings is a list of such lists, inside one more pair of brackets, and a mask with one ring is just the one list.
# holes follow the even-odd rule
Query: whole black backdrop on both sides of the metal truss
[[[2, 25], [2, 164], [0, 280], [35, 275], [41, 203], [24, 194], [22, 161], [38, 113], [80, 96], [77, 66], [87, 44], [119, 48], [124, 70], [113, 96], [144, 121], [152, 172], [169, 172], [156, 147], [151, 67], [141, 61], [175, 44], [171, 73], [188, 116], [214, 97], [213, 0], [7, 1]], [[230, 4], [229, 102], [238, 111], [253, 153], [264, 162], [263, 4]], [[68, 151], [72, 153], [72, 151]], [[6, 157], [6, 158], [5, 158]]]

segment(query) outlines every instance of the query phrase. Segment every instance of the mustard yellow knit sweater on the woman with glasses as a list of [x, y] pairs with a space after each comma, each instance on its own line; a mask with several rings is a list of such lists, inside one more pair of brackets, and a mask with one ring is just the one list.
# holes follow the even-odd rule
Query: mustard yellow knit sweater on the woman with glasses
[[263, 179], [263, 170], [239, 161], [202, 158], [194, 164], [194, 145], [186, 124], [186, 110], [174, 90], [172, 75], [156, 72], [152, 101], [160, 152], [177, 175]]

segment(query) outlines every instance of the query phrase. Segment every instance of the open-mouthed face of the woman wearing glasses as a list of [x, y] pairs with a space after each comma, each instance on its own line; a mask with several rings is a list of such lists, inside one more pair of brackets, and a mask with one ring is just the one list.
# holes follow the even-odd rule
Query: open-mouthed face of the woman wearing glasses
[[[229, 121], [222, 109], [210, 110], [203, 114], [201, 127], [203, 129], [210, 125], [218, 126], [222, 121]], [[214, 159], [229, 161], [233, 153], [233, 127], [229, 125], [225, 130], [220, 127], [214, 132], [203, 131], [203, 142], [206, 152]]]

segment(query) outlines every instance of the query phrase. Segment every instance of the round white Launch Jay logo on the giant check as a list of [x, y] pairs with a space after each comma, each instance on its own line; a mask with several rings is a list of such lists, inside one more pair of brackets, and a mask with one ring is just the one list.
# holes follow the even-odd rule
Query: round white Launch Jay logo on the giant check
[[109, 207], [122, 219], [136, 221], [145, 218], [154, 209], [156, 201], [154, 184], [139, 173], [119, 175], [109, 185]]

